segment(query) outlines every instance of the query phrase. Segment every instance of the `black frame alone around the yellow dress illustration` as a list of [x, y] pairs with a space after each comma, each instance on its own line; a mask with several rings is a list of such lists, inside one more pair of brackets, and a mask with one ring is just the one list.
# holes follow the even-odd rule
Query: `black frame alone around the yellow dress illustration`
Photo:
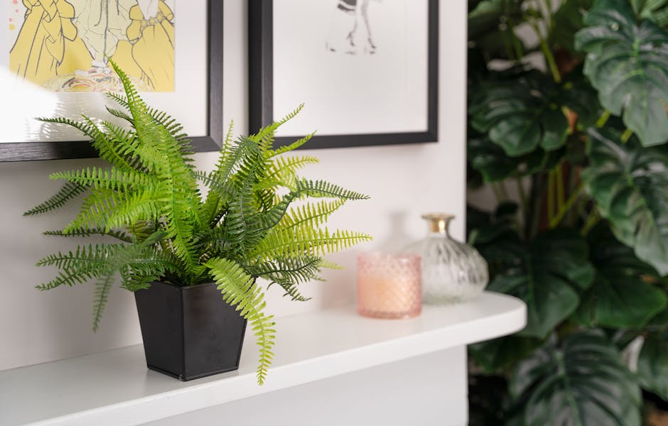
[[[193, 136], [197, 152], [217, 151], [223, 138], [222, 124], [222, 37], [223, 1], [208, 0], [208, 133]], [[176, 117], [178, 119], [178, 117]], [[64, 158], [96, 158], [97, 152], [89, 141], [9, 142], [0, 143], [0, 162], [28, 160], [57, 160]]]

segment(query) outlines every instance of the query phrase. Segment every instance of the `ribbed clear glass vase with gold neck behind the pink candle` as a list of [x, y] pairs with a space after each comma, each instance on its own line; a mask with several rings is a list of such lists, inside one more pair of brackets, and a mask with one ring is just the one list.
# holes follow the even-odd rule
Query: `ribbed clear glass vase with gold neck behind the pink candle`
[[453, 240], [448, 226], [454, 216], [423, 214], [429, 225], [424, 239], [408, 246], [404, 253], [422, 258], [422, 299], [440, 305], [465, 302], [483, 293], [489, 275], [487, 262], [477, 250]]

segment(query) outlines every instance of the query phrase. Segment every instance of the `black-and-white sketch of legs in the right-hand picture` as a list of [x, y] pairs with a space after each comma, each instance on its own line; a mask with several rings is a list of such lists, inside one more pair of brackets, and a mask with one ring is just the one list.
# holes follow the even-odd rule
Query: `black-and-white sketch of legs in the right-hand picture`
[[[369, 24], [371, 0], [338, 0], [325, 48], [334, 53], [376, 53]], [[362, 27], [362, 29], [360, 29]]]

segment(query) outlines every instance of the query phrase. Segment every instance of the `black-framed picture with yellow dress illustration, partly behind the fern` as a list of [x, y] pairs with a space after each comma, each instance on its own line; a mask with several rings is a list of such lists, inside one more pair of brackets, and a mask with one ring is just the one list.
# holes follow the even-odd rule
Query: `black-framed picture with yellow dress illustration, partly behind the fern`
[[122, 91], [109, 58], [195, 151], [217, 150], [222, 13], [220, 0], [4, 0], [0, 161], [97, 157], [75, 129], [35, 117], [109, 119], [117, 106], [104, 92]]

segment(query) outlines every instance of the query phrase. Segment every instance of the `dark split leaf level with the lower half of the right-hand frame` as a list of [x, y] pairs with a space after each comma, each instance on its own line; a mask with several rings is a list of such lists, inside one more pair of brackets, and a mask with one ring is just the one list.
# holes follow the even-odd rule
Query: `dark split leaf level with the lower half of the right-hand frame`
[[563, 107], [591, 121], [598, 108], [592, 94], [582, 82], [555, 84], [536, 70], [506, 73], [475, 88], [468, 108], [470, 124], [511, 157], [537, 148], [553, 151], [564, 146], [569, 133]]

